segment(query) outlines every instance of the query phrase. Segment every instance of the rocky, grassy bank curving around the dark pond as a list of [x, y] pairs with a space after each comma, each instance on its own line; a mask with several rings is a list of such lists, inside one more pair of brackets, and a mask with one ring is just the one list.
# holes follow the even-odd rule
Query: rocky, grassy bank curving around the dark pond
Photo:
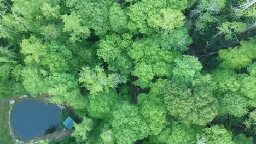
[[41, 100], [46, 104], [49, 104], [49, 101], [46, 101], [44, 99], [45, 95], [40, 95], [39, 97], [31, 97], [31, 96], [27, 96], [27, 97], [16, 97], [16, 98], [12, 98], [10, 100], [15, 100], [14, 104], [10, 104], [10, 108], [9, 108], [9, 116], [8, 116], [8, 126], [9, 126], [9, 134], [12, 137], [13, 141], [16, 143], [38, 143], [40, 140], [47, 140], [47, 141], [60, 141], [64, 136], [67, 135], [71, 135], [71, 133], [73, 132], [73, 130], [67, 130], [66, 128], [62, 129], [61, 131], [55, 131], [54, 133], [51, 134], [46, 134], [46, 135], [42, 135], [39, 137], [34, 137], [33, 139], [30, 140], [20, 140], [18, 135], [15, 134], [14, 129], [13, 129], [13, 125], [11, 123], [11, 113], [13, 112], [13, 107], [19, 103], [22, 100], [27, 100], [27, 99], [32, 99], [32, 100]]

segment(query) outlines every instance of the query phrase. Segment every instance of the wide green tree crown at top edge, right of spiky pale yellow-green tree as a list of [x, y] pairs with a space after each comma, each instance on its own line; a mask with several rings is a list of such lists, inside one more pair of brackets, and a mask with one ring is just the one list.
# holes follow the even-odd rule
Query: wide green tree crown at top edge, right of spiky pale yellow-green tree
[[112, 2], [108, 0], [68, 0], [66, 6], [70, 9], [71, 14], [80, 17], [80, 26], [86, 29], [85, 34], [89, 34], [87, 29], [94, 29], [95, 34], [105, 35], [111, 29], [109, 8]]

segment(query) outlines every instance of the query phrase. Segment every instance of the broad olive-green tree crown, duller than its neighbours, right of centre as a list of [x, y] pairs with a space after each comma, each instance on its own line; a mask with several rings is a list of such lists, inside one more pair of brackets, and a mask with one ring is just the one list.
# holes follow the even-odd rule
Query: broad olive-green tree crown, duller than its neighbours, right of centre
[[218, 103], [212, 94], [209, 75], [200, 76], [191, 88], [170, 82], [165, 89], [165, 105], [168, 112], [180, 122], [206, 125], [217, 115]]

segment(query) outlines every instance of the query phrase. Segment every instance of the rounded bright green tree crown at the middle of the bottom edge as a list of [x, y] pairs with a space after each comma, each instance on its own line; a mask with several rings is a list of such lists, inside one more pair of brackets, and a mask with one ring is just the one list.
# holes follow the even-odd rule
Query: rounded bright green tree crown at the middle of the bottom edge
[[112, 131], [118, 144], [131, 144], [148, 136], [148, 125], [143, 121], [136, 105], [121, 103], [115, 107], [112, 115]]

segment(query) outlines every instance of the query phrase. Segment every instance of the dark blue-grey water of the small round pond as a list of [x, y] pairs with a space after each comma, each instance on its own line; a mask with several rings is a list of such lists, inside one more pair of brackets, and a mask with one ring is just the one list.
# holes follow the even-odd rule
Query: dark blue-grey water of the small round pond
[[59, 129], [59, 121], [59, 107], [39, 100], [21, 101], [14, 107], [11, 115], [14, 131], [22, 140]]

